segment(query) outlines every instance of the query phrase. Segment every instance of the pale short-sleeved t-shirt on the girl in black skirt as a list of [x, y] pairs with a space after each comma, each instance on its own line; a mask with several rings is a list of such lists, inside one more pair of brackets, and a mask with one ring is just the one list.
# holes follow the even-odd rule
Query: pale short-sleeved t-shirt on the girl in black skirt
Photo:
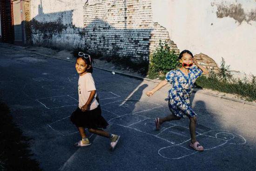
[[[78, 80], [78, 96], [79, 96], [79, 105], [78, 107], [81, 109], [83, 105], [88, 101], [91, 91], [96, 90], [94, 79], [91, 73], [86, 73], [83, 76], [79, 76]], [[95, 94], [94, 99], [91, 102], [88, 110], [91, 111], [98, 107], [99, 103], [95, 99], [97, 94]]]

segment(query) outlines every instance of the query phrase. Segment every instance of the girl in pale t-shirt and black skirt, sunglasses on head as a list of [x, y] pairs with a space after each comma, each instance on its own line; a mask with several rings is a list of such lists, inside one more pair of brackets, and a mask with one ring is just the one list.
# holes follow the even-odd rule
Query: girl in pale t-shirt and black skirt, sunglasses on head
[[85, 133], [85, 128], [88, 128], [91, 133], [110, 138], [110, 149], [114, 150], [120, 136], [102, 130], [106, 129], [108, 122], [101, 116], [101, 106], [96, 99], [91, 57], [79, 52], [75, 69], [80, 75], [78, 80], [79, 105], [72, 113], [71, 121], [77, 126], [82, 138], [75, 145], [79, 147], [91, 145]]

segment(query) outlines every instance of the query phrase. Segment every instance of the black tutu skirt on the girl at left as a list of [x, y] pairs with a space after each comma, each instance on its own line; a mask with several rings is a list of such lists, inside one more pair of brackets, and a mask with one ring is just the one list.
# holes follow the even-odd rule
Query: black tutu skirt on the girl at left
[[82, 112], [79, 107], [72, 113], [71, 122], [77, 127], [106, 129], [108, 122], [101, 116], [101, 106], [91, 111]]

